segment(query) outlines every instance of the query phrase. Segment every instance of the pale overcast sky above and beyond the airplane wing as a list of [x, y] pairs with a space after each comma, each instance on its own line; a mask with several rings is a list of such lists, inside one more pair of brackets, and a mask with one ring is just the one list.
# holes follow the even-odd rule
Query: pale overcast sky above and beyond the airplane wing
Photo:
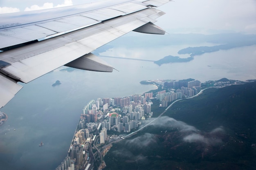
[[[1, 0], [0, 13], [96, 1], [101, 0]], [[159, 9], [166, 15], [158, 18], [156, 24], [171, 33], [256, 33], [256, 0], [175, 0]]]

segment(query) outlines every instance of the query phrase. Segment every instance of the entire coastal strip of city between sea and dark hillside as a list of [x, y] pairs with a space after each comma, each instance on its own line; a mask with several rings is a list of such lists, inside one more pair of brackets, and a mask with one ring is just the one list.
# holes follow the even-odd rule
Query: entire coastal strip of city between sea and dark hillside
[[143, 95], [91, 100], [82, 110], [67, 157], [56, 170], [103, 169], [106, 166], [104, 155], [110, 150], [111, 144], [125, 139], [128, 134], [132, 135], [139, 126], [145, 125], [144, 120], [152, 117], [153, 100], [159, 107], [167, 107], [177, 99], [198, 94], [201, 88], [220, 88], [240, 83], [228, 79], [203, 84], [195, 79], [157, 79], [141, 82], [157, 86], [157, 90]]

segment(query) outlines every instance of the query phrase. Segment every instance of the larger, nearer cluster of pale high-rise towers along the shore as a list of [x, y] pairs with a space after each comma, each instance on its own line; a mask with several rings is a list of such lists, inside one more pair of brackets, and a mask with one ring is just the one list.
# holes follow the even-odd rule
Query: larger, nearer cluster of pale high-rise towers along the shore
[[[74, 170], [74, 164], [81, 166], [88, 159], [85, 152], [88, 144], [94, 141], [91, 132], [99, 132], [99, 144], [108, 140], [108, 130], [130, 132], [141, 124], [145, 114], [152, 116], [149, 99], [153, 93], [130, 95], [128, 97], [98, 98], [91, 100], [84, 108], [70, 146], [69, 155], [56, 170]], [[109, 112], [104, 112], [112, 107]]]

